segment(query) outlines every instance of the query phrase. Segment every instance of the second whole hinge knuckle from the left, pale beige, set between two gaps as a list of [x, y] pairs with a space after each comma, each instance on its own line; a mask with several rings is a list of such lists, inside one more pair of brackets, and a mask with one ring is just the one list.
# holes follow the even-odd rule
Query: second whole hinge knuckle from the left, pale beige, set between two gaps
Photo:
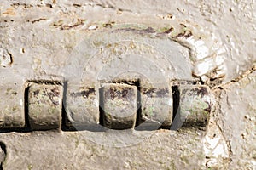
[[93, 84], [79, 87], [67, 83], [64, 99], [68, 127], [96, 127], [100, 120], [98, 89]]

